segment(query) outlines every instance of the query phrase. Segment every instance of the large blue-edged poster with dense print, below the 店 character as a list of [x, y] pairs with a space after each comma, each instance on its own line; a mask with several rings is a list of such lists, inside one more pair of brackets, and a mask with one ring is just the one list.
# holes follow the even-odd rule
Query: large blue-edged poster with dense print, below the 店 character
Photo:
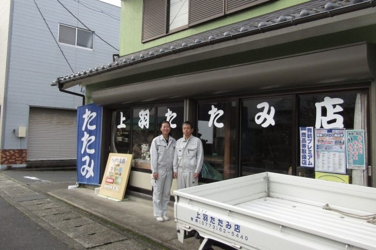
[[315, 171], [346, 173], [345, 129], [315, 129]]

